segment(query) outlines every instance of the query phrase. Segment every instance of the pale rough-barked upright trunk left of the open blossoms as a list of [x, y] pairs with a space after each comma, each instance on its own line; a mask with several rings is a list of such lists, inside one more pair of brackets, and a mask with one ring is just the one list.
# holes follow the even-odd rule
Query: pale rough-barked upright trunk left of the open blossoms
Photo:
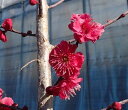
[[52, 97], [48, 96], [45, 91], [46, 87], [51, 85], [51, 69], [48, 62], [51, 51], [48, 35], [48, 5], [46, 0], [39, 2], [37, 17], [37, 46], [38, 59], [40, 60], [38, 62], [38, 110], [52, 110]]

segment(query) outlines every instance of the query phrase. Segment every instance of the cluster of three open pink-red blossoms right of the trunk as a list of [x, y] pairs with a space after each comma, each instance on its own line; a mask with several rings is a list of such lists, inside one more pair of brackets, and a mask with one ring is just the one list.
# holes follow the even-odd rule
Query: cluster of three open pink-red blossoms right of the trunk
[[79, 43], [95, 42], [104, 32], [104, 26], [94, 22], [88, 14], [73, 14], [69, 29], [74, 32], [76, 44], [61, 41], [52, 49], [49, 55], [49, 63], [59, 78], [54, 86], [46, 88], [47, 94], [59, 96], [61, 99], [69, 99], [80, 90], [80, 70], [84, 62], [84, 55], [76, 52]]

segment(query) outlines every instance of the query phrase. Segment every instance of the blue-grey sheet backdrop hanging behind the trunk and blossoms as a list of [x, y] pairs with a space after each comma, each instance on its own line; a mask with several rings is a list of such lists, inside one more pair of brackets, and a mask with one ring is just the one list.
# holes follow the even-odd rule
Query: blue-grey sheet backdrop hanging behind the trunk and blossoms
[[[54, 0], [52, 0], [54, 2]], [[0, 20], [11, 17], [17, 30], [36, 32], [36, 6], [28, 0], [0, 1]], [[49, 3], [51, 1], [49, 0]], [[72, 38], [67, 28], [72, 13], [87, 12], [100, 22], [119, 16], [127, 10], [126, 0], [67, 0], [49, 10], [50, 40], [57, 44]], [[86, 56], [81, 77], [81, 91], [71, 100], [54, 99], [54, 110], [100, 110], [114, 101], [128, 97], [128, 17], [109, 26], [96, 43], [80, 45]], [[20, 68], [37, 54], [36, 39], [7, 33], [8, 42], [0, 42], [0, 87], [21, 107], [37, 108], [36, 63]], [[55, 74], [53, 73], [53, 83]], [[123, 106], [123, 110], [128, 106]]]

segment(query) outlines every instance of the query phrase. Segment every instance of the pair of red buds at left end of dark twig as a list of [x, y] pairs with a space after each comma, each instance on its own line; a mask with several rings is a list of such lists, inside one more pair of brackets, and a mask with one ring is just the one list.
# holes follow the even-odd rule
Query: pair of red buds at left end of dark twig
[[0, 29], [0, 40], [3, 41], [3, 42], [7, 42], [7, 36], [6, 36], [6, 32], [7, 31], [11, 31], [12, 30], [12, 26], [13, 26], [13, 22], [12, 22], [12, 19], [8, 18], [8, 19], [5, 19], [3, 21], [3, 23], [1, 24], [1, 28], [3, 29]]

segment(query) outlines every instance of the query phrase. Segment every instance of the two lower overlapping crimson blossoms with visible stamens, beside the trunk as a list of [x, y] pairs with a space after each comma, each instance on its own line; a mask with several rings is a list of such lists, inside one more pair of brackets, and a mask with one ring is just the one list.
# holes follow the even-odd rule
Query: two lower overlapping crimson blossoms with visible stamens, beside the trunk
[[69, 99], [70, 95], [73, 96], [76, 94], [75, 91], [80, 90], [79, 83], [82, 78], [78, 76], [84, 62], [84, 55], [81, 52], [75, 52], [76, 49], [76, 44], [61, 41], [51, 51], [49, 63], [60, 78], [57, 84], [46, 89], [48, 94], [59, 96], [61, 99]]

